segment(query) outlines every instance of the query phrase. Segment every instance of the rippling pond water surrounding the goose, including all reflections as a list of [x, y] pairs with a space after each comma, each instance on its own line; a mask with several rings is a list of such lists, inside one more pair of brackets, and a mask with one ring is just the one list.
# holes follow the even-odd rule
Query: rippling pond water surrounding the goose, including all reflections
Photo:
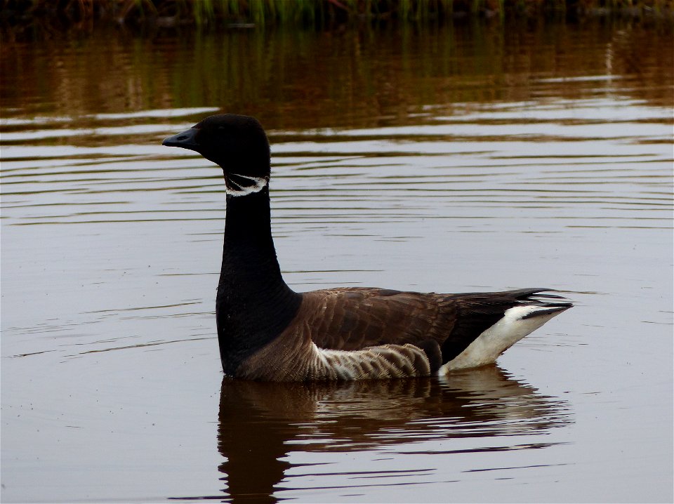
[[[670, 40], [4, 44], [3, 500], [673, 500]], [[221, 173], [160, 145], [220, 110], [268, 130], [293, 289], [549, 286], [576, 307], [442, 380], [223, 379]]]

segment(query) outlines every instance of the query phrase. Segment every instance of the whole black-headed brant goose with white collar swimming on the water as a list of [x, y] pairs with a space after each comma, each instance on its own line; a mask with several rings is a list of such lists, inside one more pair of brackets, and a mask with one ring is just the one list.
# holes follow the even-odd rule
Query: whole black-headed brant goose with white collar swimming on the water
[[270, 147], [257, 119], [206, 117], [163, 145], [225, 172], [227, 215], [216, 296], [225, 374], [270, 381], [444, 374], [496, 361], [571, 307], [550, 289], [437, 294], [343, 287], [292, 291], [270, 222]]

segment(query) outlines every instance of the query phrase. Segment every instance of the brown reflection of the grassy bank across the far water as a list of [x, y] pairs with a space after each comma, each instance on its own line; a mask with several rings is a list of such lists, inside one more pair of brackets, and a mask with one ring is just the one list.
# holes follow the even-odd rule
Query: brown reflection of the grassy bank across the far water
[[[411, 112], [422, 105], [451, 112], [467, 102], [588, 98], [612, 77], [628, 80], [631, 98], [671, 106], [671, 39], [669, 25], [616, 21], [6, 42], [0, 107], [5, 117], [13, 110], [82, 117], [209, 105], [273, 128], [363, 127], [414, 124]], [[576, 81], [588, 76], [600, 80]], [[550, 92], [542, 79], [559, 81]], [[82, 118], [78, 126], [89, 124]]]

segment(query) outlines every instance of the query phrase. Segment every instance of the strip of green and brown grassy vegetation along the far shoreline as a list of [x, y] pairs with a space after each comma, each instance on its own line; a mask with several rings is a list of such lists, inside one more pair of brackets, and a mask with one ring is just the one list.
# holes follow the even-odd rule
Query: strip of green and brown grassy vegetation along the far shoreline
[[355, 21], [627, 17], [673, 20], [674, 0], [0, 0], [4, 32], [127, 27], [327, 27]]

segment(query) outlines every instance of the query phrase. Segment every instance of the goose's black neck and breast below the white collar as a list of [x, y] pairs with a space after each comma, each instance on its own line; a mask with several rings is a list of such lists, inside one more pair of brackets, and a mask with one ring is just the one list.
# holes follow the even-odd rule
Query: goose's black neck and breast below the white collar
[[242, 360], [269, 343], [295, 316], [301, 297], [281, 276], [270, 222], [269, 187], [227, 195], [223, 267], [216, 319], [220, 358], [233, 375]]

